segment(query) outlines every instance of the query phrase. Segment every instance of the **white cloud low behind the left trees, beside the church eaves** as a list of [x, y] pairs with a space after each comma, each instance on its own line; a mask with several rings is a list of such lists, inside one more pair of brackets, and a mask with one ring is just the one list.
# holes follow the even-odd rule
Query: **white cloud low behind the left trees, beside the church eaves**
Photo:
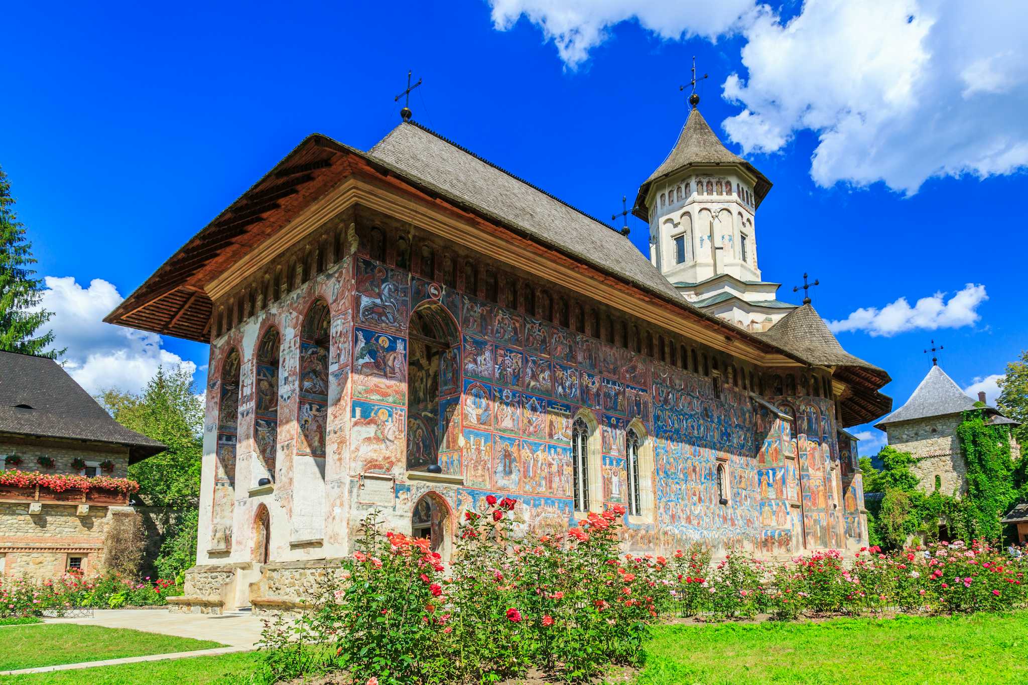
[[163, 349], [157, 334], [104, 324], [123, 299], [106, 280], [94, 278], [84, 289], [72, 276], [46, 276], [45, 282], [40, 306], [53, 312], [53, 346], [68, 348], [65, 369], [90, 394], [108, 388], [138, 392], [160, 365], [196, 371], [192, 361]]

